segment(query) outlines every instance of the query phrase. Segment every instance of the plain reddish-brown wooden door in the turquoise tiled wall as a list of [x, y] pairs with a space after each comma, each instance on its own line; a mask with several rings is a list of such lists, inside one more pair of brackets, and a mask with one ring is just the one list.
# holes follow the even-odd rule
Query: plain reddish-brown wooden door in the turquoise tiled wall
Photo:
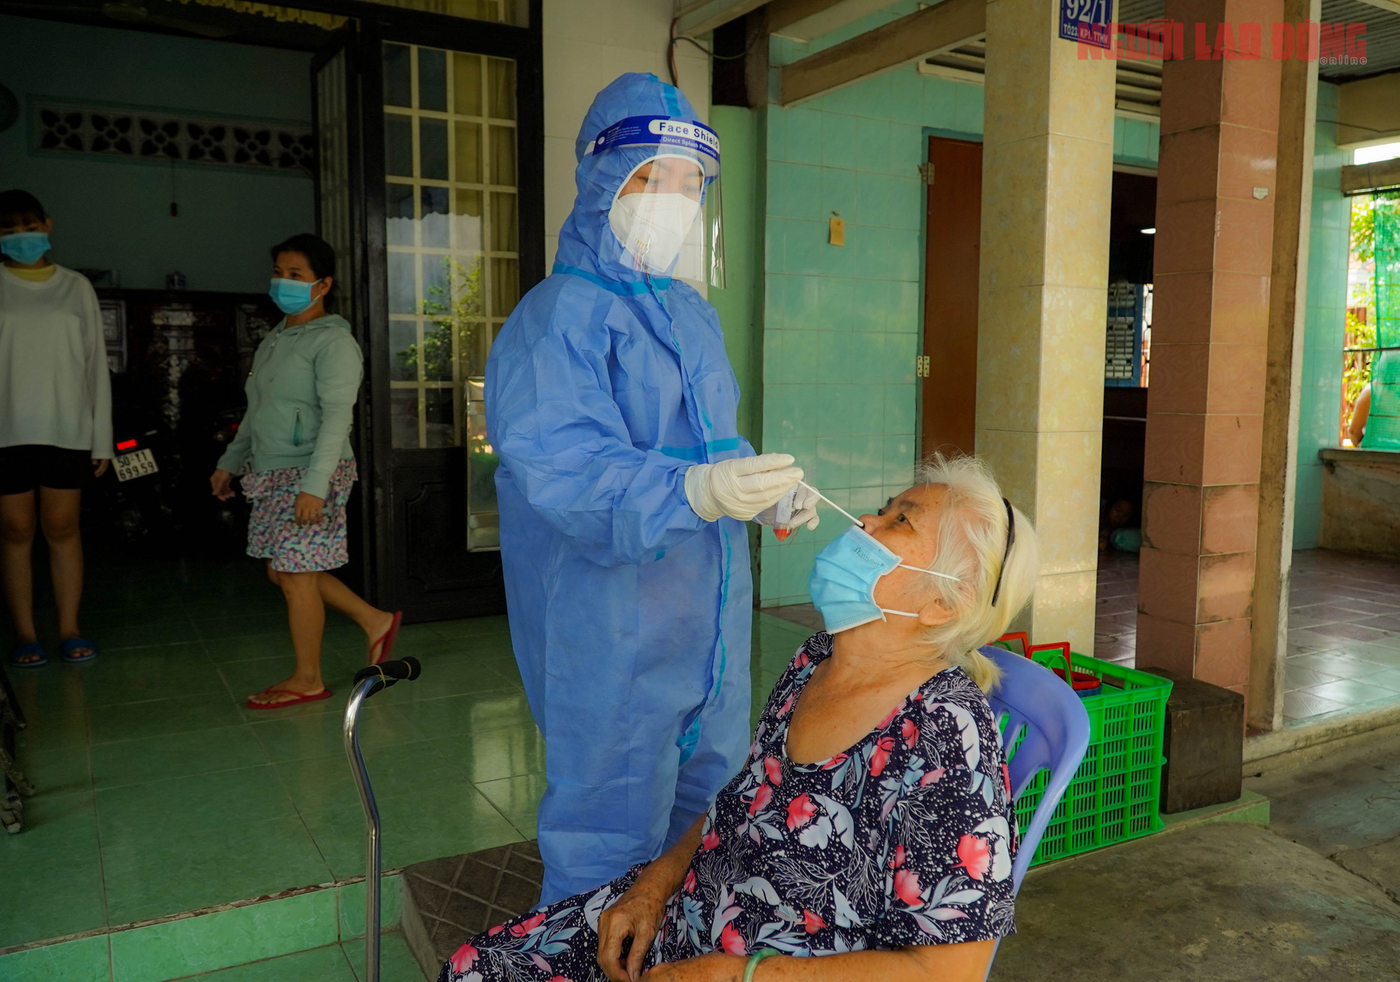
[[972, 453], [977, 417], [981, 144], [928, 138], [921, 453]]

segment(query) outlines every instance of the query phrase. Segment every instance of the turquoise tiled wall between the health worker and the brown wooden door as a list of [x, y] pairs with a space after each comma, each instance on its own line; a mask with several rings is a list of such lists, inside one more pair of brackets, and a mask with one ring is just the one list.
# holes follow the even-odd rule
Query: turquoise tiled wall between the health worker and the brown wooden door
[[[913, 13], [907, 0], [798, 43], [787, 64]], [[777, 97], [776, 76], [770, 98]], [[924, 186], [930, 134], [981, 138], [983, 87], [909, 66], [766, 115], [763, 449], [785, 452], [853, 513], [913, 481], [923, 326]], [[1117, 119], [1120, 162], [1156, 166], [1158, 126]], [[827, 222], [846, 221], [846, 245]], [[816, 533], [760, 547], [762, 606], [806, 603], [812, 558], [847, 526], [823, 506]]]

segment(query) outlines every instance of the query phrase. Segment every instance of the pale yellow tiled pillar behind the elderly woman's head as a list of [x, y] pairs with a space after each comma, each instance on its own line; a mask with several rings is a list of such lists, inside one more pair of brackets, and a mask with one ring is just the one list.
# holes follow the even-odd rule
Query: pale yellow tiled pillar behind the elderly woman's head
[[1040, 533], [1035, 641], [1093, 650], [1113, 62], [987, 4], [977, 453]]

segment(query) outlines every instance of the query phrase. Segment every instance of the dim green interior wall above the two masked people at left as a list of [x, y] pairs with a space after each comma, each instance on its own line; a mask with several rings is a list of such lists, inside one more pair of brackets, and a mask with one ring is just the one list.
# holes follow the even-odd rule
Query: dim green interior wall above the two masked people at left
[[[0, 133], [0, 185], [53, 215], [53, 257], [116, 269], [123, 287], [262, 292], [267, 246], [312, 231], [312, 182], [197, 164], [92, 159], [31, 150], [35, 97], [308, 123], [311, 56], [143, 31], [0, 17], [0, 84], [21, 102]], [[171, 183], [179, 217], [171, 218]]]

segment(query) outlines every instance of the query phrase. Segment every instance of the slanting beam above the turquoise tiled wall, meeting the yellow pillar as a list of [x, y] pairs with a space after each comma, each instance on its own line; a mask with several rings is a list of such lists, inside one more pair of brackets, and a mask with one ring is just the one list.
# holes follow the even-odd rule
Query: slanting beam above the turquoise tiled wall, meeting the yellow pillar
[[785, 64], [778, 102], [790, 106], [867, 76], [965, 45], [987, 32], [987, 0], [944, 0]]

